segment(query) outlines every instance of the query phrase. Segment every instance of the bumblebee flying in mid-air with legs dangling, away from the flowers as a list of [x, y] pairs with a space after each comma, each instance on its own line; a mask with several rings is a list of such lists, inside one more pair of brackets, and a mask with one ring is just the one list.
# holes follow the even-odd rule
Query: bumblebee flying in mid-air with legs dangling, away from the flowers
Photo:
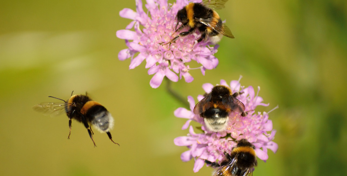
[[33, 106], [33, 109], [35, 111], [43, 112], [46, 115], [58, 115], [65, 110], [66, 115], [69, 117], [70, 132], [68, 139], [70, 139], [71, 123], [74, 119], [77, 122], [82, 123], [86, 127], [89, 133], [89, 137], [94, 143], [94, 147], [96, 147], [96, 145], [92, 136], [94, 133], [91, 126], [94, 126], [101, 133], [106, 132], [110, 140], [113, 143], [118, 144], [112, 140], [110, 133], [110, 130], [113, 127], [113, 117], [111, 116], [110, 112], [108, 112], [107, 109], [100, 103], [93, 101], [87, 95], [72, 94], [73, 92], [71, 93], [71, 97], [67, 101], [49, 96], [51, 98], [62, 100], [64, 101], [64, 103], [41, 103]]

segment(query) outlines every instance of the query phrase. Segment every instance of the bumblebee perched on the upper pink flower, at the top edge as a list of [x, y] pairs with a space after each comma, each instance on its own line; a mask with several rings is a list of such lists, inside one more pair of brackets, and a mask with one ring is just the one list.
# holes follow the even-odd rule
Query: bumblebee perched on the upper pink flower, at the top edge
[[[191, 34], [195, 29], [198, 29], [201, 33], [201, 37], [197, 42], [209, 40], [211, 43], [216, 44], [221, 40], [223, 35], [229, 38], [234, 38], [230, 29], [222, 23], [217, 12], [212, 10], [224, 8], [224, 4], [227, 1], [228, 0], [203, 0], [201, 3], [190, 2], [187, 6], [177, 12], [176, 18], [178, 21], [175, 27], [175, 33], [179, 32], [186, 26], [189, 27], [189, 30], [187, 32], [179, 33], [169, 42], [162, 45], [171, 44], [179, 37]], [[182, 25], [177, 29], [179, 22], [181, 22]]]

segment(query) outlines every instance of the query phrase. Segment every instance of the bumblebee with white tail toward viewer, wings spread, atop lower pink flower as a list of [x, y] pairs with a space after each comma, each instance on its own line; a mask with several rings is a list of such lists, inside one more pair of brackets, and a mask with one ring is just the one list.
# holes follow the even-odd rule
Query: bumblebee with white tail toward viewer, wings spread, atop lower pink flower
[[231, 90], [226, 86], [215, 86], [211, 93], [205, 94], [198, 102], [193, 112], [200, 114], [208, 130], [213, 132], [225, 131], [228, 126], [229, 113], [239, 112], [245, 116], [245, 105], [236, 97], [240, 93], [231, 94]]

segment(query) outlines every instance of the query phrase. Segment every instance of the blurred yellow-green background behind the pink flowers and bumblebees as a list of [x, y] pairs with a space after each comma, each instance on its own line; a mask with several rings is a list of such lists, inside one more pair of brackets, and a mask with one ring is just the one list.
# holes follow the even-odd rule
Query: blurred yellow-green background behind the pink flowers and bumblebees
[[[128, 70], [116, 31], [134, 1], [0, 2], [0, 175], [168, 175], [193, 173], [180, 160], [185, 147], [174, 138], [185, 119], [167, 94], [166, 82], [152, 89], [145, 64]], [[276, 154], [259, 161], [255, 176], [347, 175], [347, 1], [229, 0], [218, 11], [235, 39], [223, 38], [217, 69], [191, 70], [192, 83], [172, 87], [184, 97], [203, 94], [203, 83], [237, 80], [261, 87], [277, 130]], [[94, 148], [82, 124], [44, 116], [32, 106], [68, 99], [71, 91], [102, 103], [115, 117], [111, 131], [95, 132]], [[59, 102], [59, 101], [56, 101]]]

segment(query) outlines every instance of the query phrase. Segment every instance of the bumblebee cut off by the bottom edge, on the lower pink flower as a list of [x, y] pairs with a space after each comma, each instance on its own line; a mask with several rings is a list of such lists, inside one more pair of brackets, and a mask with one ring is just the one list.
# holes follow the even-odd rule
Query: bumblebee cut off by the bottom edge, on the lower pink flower
[[224, 152], [225, 159], [219, 165], [217, 162], [205, 160], [212, 167], [220, 167], [213, 176], [252, 176], [257, 166], [254, 145], [241, 139], [230, 153]]

